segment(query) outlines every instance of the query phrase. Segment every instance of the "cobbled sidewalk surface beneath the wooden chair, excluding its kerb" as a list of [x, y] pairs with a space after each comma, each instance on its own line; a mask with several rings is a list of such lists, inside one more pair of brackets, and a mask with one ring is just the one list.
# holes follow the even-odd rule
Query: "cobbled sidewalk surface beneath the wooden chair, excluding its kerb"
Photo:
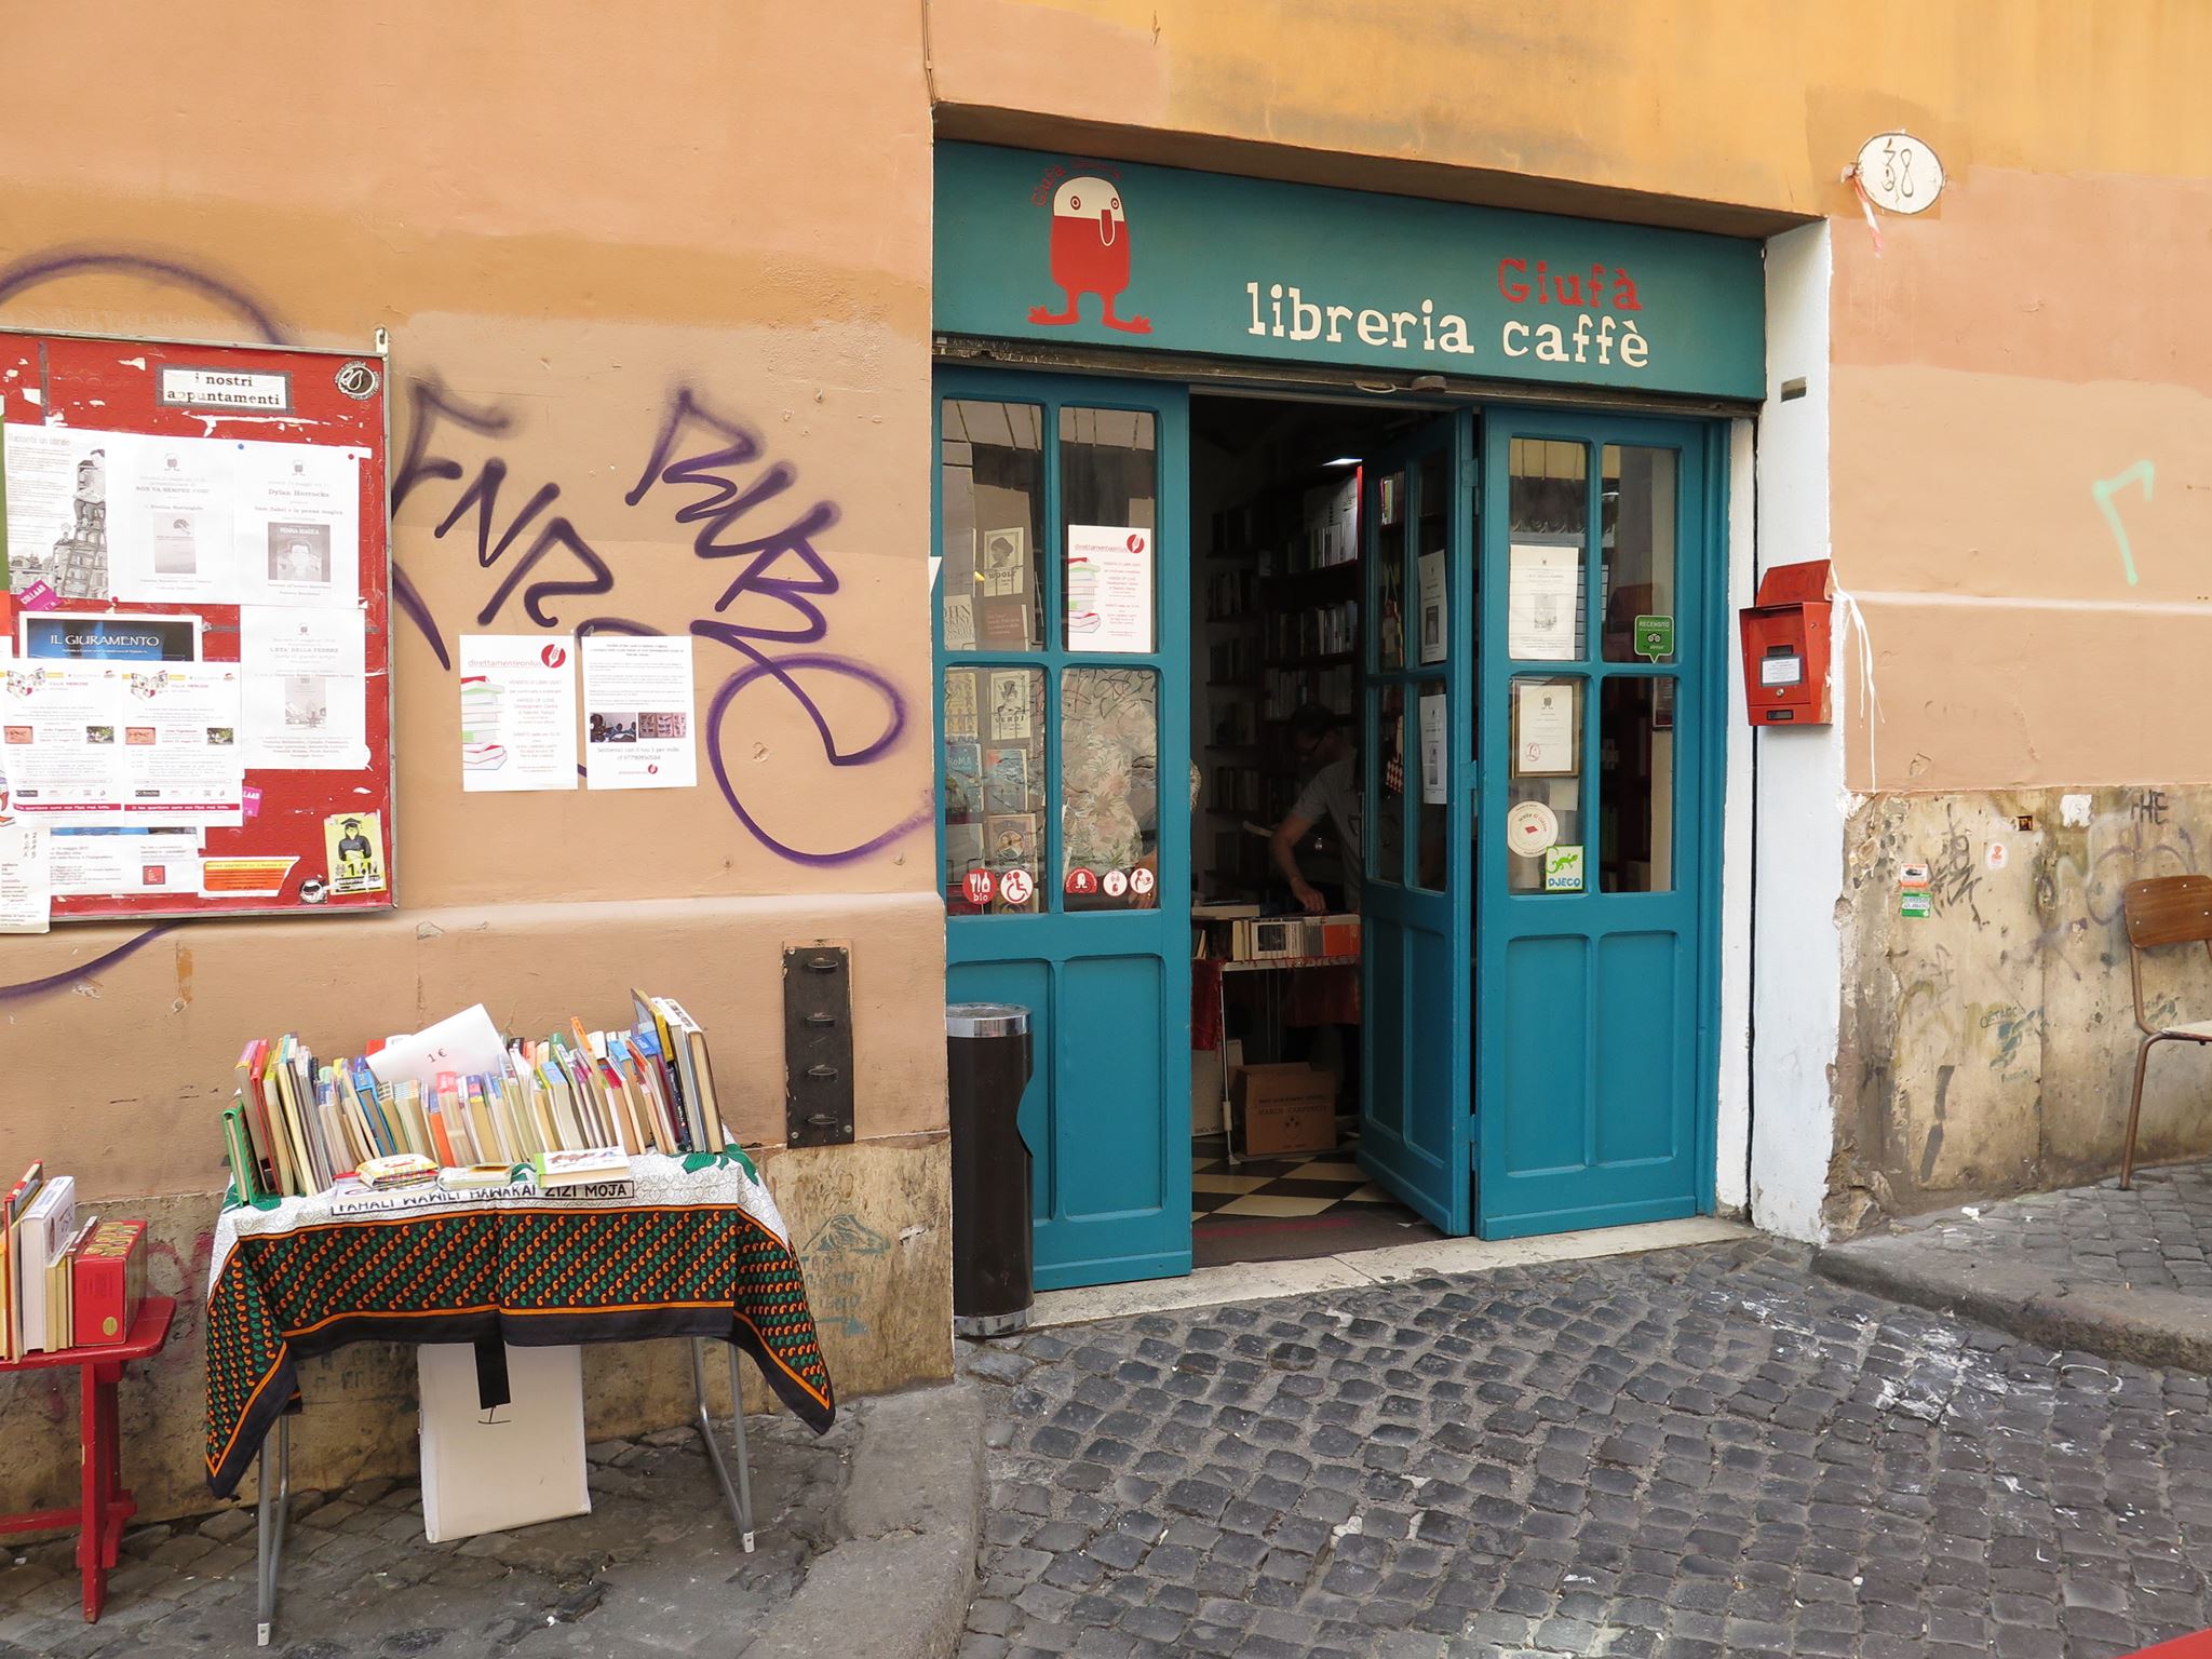
[[[2048, 1276], [2053, 1290], [2177, 1290], [2212, 1296], [2212, 1164], [2137, 1170], [2135, 1190], [2119, 1179], [2064, 1192], [1978, 1203], [1902, 1221], [1929, 1261], [1962, 1270], [2002, 1256]], [[1849, 1254], [1840, 1245], [1836, 1254]]]

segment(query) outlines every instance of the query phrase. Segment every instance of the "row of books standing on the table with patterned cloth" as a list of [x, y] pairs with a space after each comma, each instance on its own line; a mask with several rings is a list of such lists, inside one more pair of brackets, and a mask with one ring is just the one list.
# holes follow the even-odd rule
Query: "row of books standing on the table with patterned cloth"
[[633, 991], [630, 1004], [626, 1031], [571, 1020], [429, 1084], [380, 1079], [369, 1055], [385, 1044], [316, 1060], [294, 1035], [257, 1037], [239, 1055], [223, 1110], [239, 1197], [305, 1197], [407, 1155], [447, 1172], [487, 1170], [487, 1181], [489, 1170], [529, 1164], [542, 1186], [560, 1186], [622, 1175], [635, 1152], [721, 1152], [728, 1135], [706, 1033], [672, 998]]

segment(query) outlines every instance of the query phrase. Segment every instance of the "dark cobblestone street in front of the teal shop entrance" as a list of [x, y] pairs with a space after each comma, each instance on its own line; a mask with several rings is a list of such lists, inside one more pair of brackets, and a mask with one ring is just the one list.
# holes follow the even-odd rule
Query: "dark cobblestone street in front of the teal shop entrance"
[[2104, 1657], [2212, 1624], [2212, 1400], [1714, 1245], [969, 1349], [962, 1659]]

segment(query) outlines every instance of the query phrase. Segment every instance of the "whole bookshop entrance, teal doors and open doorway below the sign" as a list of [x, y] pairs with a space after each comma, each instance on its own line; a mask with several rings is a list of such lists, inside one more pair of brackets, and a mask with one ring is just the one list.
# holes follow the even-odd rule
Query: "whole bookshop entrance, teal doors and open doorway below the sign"
[[938, 420], [949, 998], [1033, 1011], [1037, 1285], [1708, 1210], [1705, 422]]

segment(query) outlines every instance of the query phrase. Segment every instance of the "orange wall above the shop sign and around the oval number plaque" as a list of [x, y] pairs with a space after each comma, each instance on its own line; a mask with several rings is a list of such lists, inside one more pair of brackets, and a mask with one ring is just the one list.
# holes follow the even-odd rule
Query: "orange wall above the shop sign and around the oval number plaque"
[[[2212, 9], [933, 0], [940, 131], [1761, 234], [1834, 217], [1856, 790], [2194, 781], [2212, 668]], [[1843, 168], [1929, 139], [1874, 254]], [[2093, 493], [2115, 484], [2119, 544]], [[2141, 476], [2141, 473], [2132, 473]], [[1770, 557], [1794, 551], [1767, 549]], [[1803, 557], [1816, 557], [1805, 549]], [[1938, 595], [1931, 602], [1927, 595]], [[2028, 604], [1989, 604], [1991, 599]]]

